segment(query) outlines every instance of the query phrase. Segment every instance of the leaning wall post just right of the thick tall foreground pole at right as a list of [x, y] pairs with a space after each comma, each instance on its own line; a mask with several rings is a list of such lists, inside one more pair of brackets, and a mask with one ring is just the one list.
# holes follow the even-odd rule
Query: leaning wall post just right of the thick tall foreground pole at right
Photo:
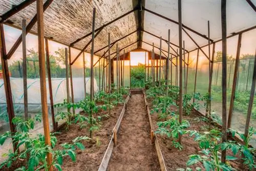
[[231, 99], [228, 111], [228, 120], [227, 120], [227, 128], [229, 129], [231, 126], [232, 114], [233, 114], [233, 106], [234, 106], [234, 93], [236, 92], [237, 88], [237, 78], [238, 78], [238, 69], [239, 69], [239, 58], [240, 58], [240, 49], [241, 49], [241, 40], [242, 40], [242, 33], [238, 36], [238, 46], [237, 46], [237, 55], [236, 55], [236, 62], [234, 63], [234, 77], [233, 77], [233, 84], [232, 84], [232, 91], [231, 91]]

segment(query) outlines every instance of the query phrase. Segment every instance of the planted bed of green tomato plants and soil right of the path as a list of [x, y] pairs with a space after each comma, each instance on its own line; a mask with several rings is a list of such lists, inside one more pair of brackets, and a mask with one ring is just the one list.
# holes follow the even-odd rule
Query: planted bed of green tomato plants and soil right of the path
[[[145, 95], [148, 101], [146, 105], [151, 109], [155, 143], [158, 141], [163, 156], [162, 165], [165, 168], [161, 167], [162, 170], [253, 170], [256, 167], [255, 148], [249, 145], [255, 129], [250, 127], [248, 137], [236, 130], [229, 130], [232, 136], [227, 142], [221, 142], [221, 130], [214, 124], [220, 123], [221, 118], [211, 113], [209, 123], [208, 117], [198, 112], [199, 108], [207, 110], [207, 94], [182, 95], [181, 123], [179, 87], [152, 87]], [[233, 141], [235, 135], [243, 143]], [[224, 150], [227, 156], [226, 162], [222, 163], [220, 155]]]

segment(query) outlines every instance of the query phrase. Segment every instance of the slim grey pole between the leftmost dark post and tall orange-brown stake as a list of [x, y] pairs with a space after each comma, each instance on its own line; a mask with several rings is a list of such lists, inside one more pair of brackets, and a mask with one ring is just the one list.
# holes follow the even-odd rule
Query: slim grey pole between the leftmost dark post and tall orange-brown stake
[[26, 49], [26, 19], [22, 20], [22, 54], [23, 54], [23, 90], [24, 90], [24, 116], [28, 120], [28, 86], [27, 86], [27, 49]]

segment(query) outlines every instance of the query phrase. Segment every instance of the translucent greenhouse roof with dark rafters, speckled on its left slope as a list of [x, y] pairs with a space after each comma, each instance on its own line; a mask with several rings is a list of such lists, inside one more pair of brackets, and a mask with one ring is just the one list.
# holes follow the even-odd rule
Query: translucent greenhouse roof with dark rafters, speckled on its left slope
[[[91, 40], [92, 11], [96, 8], [95, 28], [99, 34], [95, 38], [95, 54], [103, 55], [108, 50], [108, 33], [111, 42], [117, 42], [125, 52], [142, 48], [152, 50], [152, 44], [167, 51], [168, 29], [170, 29], [170, 53], [176, 54], [179, 47], [178, 36], [178, 1], [77, 1], [77, 0], [45, 0], [44, 22], [45, 36], [65, 45], [83, 49]], [[23, 4], [21, 10], [17, 10]], [[227, 1], [227, 36], [246, 29], [256, 28], [256, 0]], [[28, 5], [28, 6], [25, 6]], [[2, 0], [0, 2], [2, 22], [22, 27], [22, 20], [27, 24], [36, 15], [35, 0]], [[8, 13], [9, 11], [9, 13]], [[17, 12], [18, 11], [18, 12]], [[17, 12], [10, 16], [10, 12]], [[7, 19], [5, 16], [8, 16]], [[10, 16], [10, 17], [9, 17]], [[35, 17], [36, 18], [36, 17]], [[210, 24], [210, 40], [221, 39], [221, 1], [182, 1], [183, 29], [199, 46], [207, 45]], [[33, 25], [32, 25], [33, 26]], [[189, 36], [183, 31], [185, 50], [197, 48]], [[37, 25], [31, 29], [37, 32]], [[97, 32], [96, 32], [97, 34]], [[91, 44], [87, 47], [90, 51]], [[111, 53], [116, 51], [113, 46]], [[123, 53], [123, 52], [121, 52]], [[159, 49], [155, 49], [159, 54]]]

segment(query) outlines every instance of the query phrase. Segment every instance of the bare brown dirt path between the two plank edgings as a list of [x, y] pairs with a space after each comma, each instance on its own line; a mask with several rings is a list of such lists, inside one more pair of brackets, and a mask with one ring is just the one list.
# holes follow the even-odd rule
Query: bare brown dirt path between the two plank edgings
[[107, 170], [160, 170], [143, 94], [133, 94], [127, 104]]

